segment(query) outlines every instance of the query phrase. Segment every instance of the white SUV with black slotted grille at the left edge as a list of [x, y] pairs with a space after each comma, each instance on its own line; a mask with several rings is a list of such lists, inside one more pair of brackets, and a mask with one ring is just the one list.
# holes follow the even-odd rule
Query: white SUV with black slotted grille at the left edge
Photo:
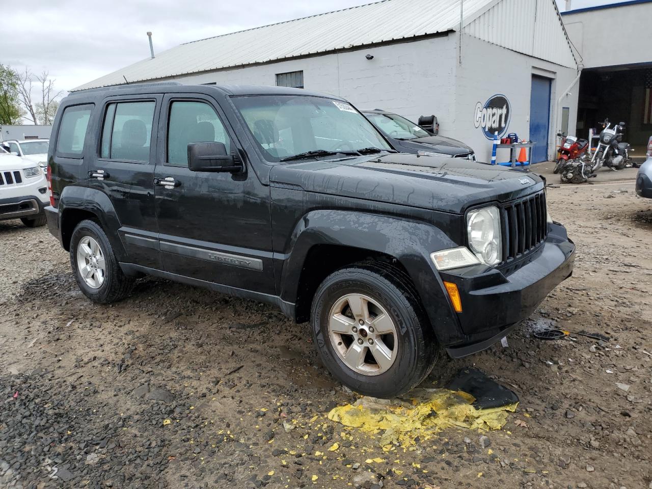
[[50, 204], [43, 168], [0, 146], [0, 220], [19, 219], [28, 228], [44, 226], [44, 207]]

